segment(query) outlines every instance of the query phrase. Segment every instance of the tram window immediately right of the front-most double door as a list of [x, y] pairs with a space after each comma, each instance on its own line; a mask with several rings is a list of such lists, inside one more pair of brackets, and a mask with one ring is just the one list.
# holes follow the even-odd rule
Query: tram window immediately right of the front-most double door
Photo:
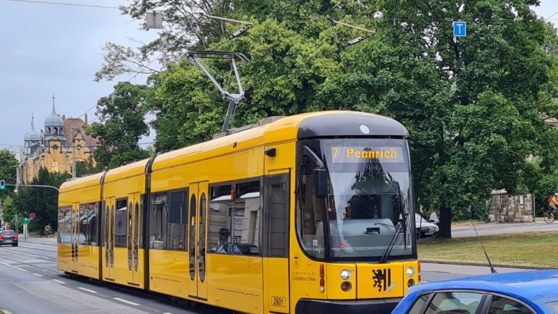
[[[208, 248], [210, 253], [229, 253], [230, 211], [232, 210], [230, 184], [211, 187], [209, 201]], [[219, 251], [218, 251], [219, 248]]]

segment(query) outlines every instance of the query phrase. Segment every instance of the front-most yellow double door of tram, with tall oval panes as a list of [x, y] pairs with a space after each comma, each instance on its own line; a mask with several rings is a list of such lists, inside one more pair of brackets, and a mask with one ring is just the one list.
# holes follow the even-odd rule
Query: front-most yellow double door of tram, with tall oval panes
[[188, 296], [207, 300], [206, 222], [207, 181], [190, 184], [188, 211]]

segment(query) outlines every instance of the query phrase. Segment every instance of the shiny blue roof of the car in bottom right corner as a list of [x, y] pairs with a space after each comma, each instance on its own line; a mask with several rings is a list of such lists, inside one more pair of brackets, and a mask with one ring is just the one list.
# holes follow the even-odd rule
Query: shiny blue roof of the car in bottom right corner
[[507, 294], [522, 300], [558, 301], [557, 288], [558, 269], [549, 269], [445, 279], [414, 285], [409, 294], [419, 295], [434, 290], [476, 290]]

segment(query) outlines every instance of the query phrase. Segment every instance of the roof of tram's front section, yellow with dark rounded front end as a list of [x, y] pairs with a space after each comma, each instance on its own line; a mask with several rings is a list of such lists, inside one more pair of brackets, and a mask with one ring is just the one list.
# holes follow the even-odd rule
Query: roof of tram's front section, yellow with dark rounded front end
[[[361, 125], [368, 126], [370, 134], [364, 134]], [[283, 117], [270, 124], [169, 151], [155, 158], [152, 169], [156, 171], [176, 164], [297, 139], [351, 135], [408, 137], [409, 133], [398, 121], [377, 114], [350, 111], [309, 112]]]

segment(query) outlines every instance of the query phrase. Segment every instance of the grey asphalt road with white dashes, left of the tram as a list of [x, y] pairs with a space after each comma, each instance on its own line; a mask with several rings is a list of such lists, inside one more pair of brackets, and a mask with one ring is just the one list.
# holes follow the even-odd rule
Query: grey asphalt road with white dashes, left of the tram
[[1, 309], [13, 314], [200, 313], [169, 300], [68, 278], [56, 269], [56, 240], [27, 240], [0, 247]]

